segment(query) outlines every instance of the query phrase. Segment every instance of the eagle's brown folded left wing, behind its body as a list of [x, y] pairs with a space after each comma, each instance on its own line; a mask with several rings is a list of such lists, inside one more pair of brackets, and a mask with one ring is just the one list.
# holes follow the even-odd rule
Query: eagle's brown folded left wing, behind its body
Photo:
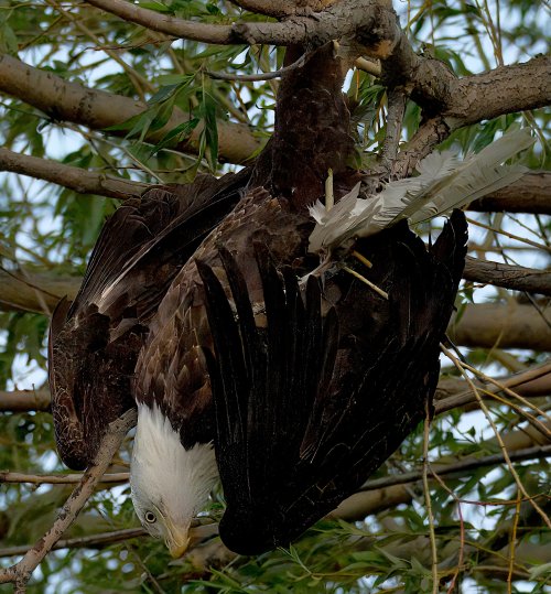
[[62, 300], [50, 328], [52, 412], [67, 466], [86, 467], [108, 423], [133, 406], [130, 381], [150, 318], [248, 175], [153, 188], [106, 222], [75, 301]]

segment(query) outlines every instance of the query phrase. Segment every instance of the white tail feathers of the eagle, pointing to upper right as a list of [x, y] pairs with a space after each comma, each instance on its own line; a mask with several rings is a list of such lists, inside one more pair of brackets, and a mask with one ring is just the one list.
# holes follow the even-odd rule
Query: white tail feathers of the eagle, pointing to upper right
[[390, 182], [380, 194], [360, 198], [357, 184], [331, 210], [317, 201], [310, 207], [316, 225], [309, 249], [329, 251], [350, 237], [368, 237], [403, 218], [414, 225], [505, 187], [527, 170], [501, 163], [533, 142], [525, 128], [504, 134], [463, 161], [452, 151], [433, 152], [419, 163], [417, 177]]

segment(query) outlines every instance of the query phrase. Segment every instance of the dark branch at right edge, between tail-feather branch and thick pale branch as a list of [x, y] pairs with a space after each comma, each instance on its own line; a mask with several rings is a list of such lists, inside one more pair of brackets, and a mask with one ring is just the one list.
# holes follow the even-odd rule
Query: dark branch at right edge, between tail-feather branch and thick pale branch
[[548, 270], [500, 264], [467, 256], [463, 278], [514, 291], [527, 291], [551, 296], [551, 272]]

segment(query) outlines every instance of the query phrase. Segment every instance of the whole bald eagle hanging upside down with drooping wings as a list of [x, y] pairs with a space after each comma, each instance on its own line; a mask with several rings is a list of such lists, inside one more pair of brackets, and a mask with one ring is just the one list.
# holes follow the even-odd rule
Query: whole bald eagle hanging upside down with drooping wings
[[[152, 212], [169, 204], [168, 218], [145, 220], [148, 199], [119, 210], [76, 301], [54, 315], [62, 457], [86, 465], [107, 423], [136, 403], [134, 509], [174, 557], [218, 477], [224, 542], [246, 554], [287, 546], [431, 407], [466, 224], [454, 212], [426, 248], [408, 219], [433, 205], [447, 212], [488, 183], [483, 175], [461, 199], [439, 202], [454, 179], [444, 166], [437, 183], [425, 177], [400, 198], [390, 186], [369, 216], [382, 194], [354, 191], [347, 67], [328, 44], [285, 73], [276, 132], [252, 172], [210, 180], [204, 194], [192, 186], [204, 197], [195, 206], [155, 202]], [[334, 212], [313, 206], [329, 169]]]

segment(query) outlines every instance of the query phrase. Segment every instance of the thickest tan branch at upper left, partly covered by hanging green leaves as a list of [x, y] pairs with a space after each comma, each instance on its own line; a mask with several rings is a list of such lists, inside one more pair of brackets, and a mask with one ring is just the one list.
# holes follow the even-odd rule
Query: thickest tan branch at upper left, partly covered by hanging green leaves
[[[51, 72], [34, 68], [1, 53], [0, 91], [32, 105], [54, 120], [79, 123], [93, 130], [120, 125], [147, 109], [141, 101], [64, 80]], [[145, 140], [159, 142], [169, 130], [188, 119], [185, 114], [175, 109], [166, 126], [147, 134]], [[242, 163], [260, 148], [247, 126], [218, 121], [217, 127], [219, 153], [226, 161]], [[110, 133], [120, 136], [126, 132]], [[195, 128], [188, 140], [180, 142], [176, 148], [184, 152], [197, 152], [199, 133], [201, 126]]]

